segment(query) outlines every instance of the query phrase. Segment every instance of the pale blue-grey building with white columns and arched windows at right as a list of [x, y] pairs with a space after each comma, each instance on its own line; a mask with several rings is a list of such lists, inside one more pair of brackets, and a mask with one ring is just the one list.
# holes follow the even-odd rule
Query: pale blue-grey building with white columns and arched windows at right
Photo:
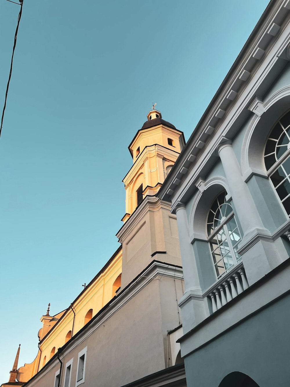
[[288, 386], [290, 1], [269, 3], [159, 191], [189, 386]]

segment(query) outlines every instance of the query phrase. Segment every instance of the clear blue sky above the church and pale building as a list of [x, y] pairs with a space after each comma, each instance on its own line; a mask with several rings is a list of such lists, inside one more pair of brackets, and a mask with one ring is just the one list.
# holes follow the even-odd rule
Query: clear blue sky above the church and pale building
[[[15, 0], [16, 2], [18, 0]], [[186, 140], [268, 0], [24, 0], [0, 138], [0, 384], [119, 244], [152, 102]], [[0, 0], [0, 110], [19, 6]]]

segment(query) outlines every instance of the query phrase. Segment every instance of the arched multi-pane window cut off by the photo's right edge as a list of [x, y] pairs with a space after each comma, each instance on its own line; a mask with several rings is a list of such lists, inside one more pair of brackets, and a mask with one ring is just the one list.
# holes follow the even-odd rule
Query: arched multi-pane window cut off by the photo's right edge
[[264, 149], [267, 174], [290, 216], [290, 111], [271, 129]]

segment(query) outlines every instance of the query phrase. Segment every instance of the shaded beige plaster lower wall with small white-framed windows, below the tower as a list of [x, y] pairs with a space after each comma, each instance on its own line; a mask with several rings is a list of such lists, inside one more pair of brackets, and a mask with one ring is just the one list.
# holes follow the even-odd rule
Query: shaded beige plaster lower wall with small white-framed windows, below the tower
[[[164, 369], [167, 329], [178, 322], [173, 279], [151, 281], [65, 358], [61, 356], [64, 365], [73, 358], [71, 386], [75, 386], [78, 353], [86, 346], [84, 387], [119, 387]], [[58, 368], [55, 366], [36, 386], [53, 385]], [[64, 373], [61, 385], [63, 378]]]

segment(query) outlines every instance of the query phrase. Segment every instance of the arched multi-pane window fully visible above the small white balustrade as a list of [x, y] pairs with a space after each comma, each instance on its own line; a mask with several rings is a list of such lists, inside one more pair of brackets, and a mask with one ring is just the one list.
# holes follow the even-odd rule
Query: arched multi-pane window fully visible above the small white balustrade
[[213, 200], [207, 219], [207, 234], [217, 279], [241, 260], [237, 253], [241, 234], [226, 195], [227, 192], [223, 191]]

